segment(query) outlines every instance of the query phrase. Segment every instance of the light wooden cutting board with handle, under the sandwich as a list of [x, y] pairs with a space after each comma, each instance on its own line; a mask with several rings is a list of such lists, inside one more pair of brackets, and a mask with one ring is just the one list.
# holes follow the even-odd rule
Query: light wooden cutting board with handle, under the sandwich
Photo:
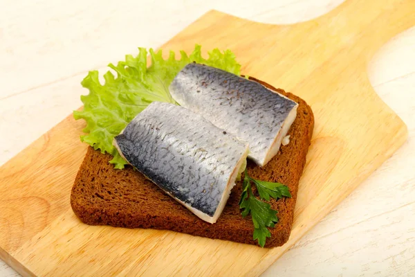
[[257, 276], [403, 144], [367, 78], [382, 44], [415, 24], [414, 0], [349, 0], [275, 26], [211, 11], [162, 48], [230, 48], [242, 72], [304, 98], [315, 131], [290, 240], [275, 249], [169, 231], [82, 224], [69, 197], [86, 145], [68, 116], [0, 168], [0, 258], [25, 276]]

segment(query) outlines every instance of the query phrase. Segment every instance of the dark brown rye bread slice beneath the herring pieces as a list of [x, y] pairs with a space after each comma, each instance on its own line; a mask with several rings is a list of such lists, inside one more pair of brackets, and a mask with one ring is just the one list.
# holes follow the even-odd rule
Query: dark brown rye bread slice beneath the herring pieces
[[[256, 81], [299, 103], [297, 118], [288, 132], [291, 135], [290, 143], [282, 146], [264, 168], [259, 168], [251, 161], [248, 161], [247, 166], [250, 176], [286, 184], [293, 195], [292, 198], [270, 201], [271, 206], [278, 211], [279, 222], [275, 228], [270, 229], [271, 238], [266, 240], [266, 247], [278, 247], [288, 240], [291, 233], [298, 183], [306, 162], [314, 118], [311, 108], [301, 98]], [[124, 170], [114, 169], [109, 163], [110, 159], [109, 154], [101, 154], [90, 147], [77, 173], [71, 194], [71, 206], [82, 222], [127, 228], [165, 229], [257, 245], [257, 241], [252, 240], [252, 220], [250, 216], [243, 218], [238, 206], [241, 182], [232, 189], [219, 220], [210, 224], [200, 220], [131, 166]]]

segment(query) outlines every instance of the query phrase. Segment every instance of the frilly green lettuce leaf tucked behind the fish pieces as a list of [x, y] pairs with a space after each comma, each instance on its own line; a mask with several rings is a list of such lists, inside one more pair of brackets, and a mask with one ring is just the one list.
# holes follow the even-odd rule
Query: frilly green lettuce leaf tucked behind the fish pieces
[[178, 71], [186, 64], [198, 62], [214, 66], [225, 71], [240, 75], [241, 65], [235, 60], [234, 54], [225, 50], [214, 49], [207, 59], [201, 55], [201, 46], [196, 45], [194, 51], [187, 55], [181, 51], [180, 59], [176, 60], [173, 51], [165, 60], [161, 50], [149, 50], [151, 64], [147, 67], [147, 50], [138, 48], [136, 57], [126, 55], [124, 62], [109, 64], [116, 76], [108, 71], [104, 74], [104, 84], [100, 83], [98, 71], [90, 71], [81, 82], [82, 87], [89, 89], [89, 94], [81, 96], [84, 103], [82, 111], [73, 111], [76, 120], [84, 119], [85, 135], [81, 141], [93, 146], [95, 150], [113, 156], [110, 163], [122, 169], [127, 164], [112, 145], [114, 136], [153, 101], [177, 104], [169, 93], [169, 84]]

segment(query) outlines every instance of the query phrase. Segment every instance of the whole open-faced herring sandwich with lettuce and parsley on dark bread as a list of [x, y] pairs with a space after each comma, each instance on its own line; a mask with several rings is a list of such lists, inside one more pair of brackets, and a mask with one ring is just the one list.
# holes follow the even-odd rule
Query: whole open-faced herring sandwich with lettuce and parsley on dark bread
[[86, 120], [81, 139], [92, 147], [73, 185], [75, 214], [86, 224], [284, 244], [311, 108], [241, 75], [230, 51], [150, 55], [149, 67], [140, 48], [109, 65], [116, 77], [109, 71], [100, 84], [91, 71], [82, 82], [89, 95], [74, 114]]

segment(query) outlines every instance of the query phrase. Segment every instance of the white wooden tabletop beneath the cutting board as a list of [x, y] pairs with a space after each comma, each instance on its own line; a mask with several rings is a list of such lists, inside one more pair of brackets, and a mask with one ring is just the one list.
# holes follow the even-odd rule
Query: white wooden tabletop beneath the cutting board
[[[340, 3], [0, 0], [0, 165], [80, 107], [87, 71], [163, 44], [212, 8], [287, 24]], [[407, 143], [264, 276], [415, 276], [415, 28], [391, 39], [368, 70], [407, 124]], [[0, 276], [18, 274], [0, 260]]]

